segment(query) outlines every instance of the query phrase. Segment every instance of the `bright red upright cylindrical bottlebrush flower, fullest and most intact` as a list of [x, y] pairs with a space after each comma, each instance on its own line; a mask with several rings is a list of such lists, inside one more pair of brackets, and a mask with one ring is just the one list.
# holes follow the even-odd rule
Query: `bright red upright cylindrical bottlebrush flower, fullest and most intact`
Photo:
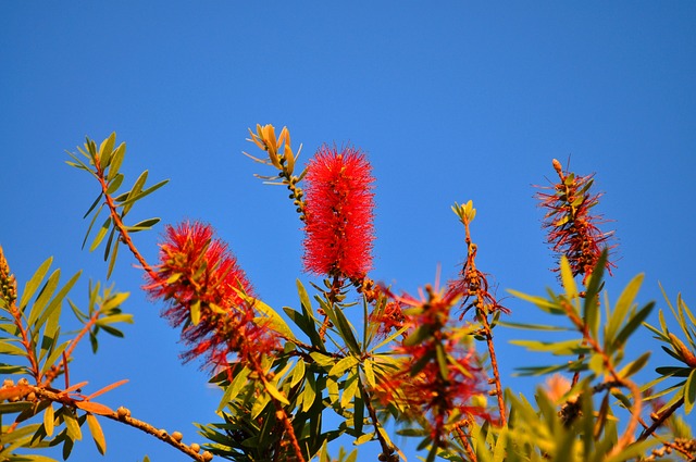
[[362, 279], [372, 265], [374, 178], [364, 154], [322, 146], [307, 170], [304, 267]]

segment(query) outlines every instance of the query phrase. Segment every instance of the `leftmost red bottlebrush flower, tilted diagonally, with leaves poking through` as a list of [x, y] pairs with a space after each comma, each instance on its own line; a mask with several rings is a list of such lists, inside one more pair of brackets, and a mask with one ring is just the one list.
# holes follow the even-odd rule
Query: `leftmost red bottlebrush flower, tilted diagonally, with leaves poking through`
[[249, 360], [277, 348], [277, 338], [254, 322], [252, 288], [227, 246], [210, 225], [167, 226], [160, 244], [160, 264], [145, 289], [167, 301], [163, 312], [173, 326], [183, 325], [182, 339], [190, 347], [185, 361], [204, 355], [208, 365], [224, 366], [229, 353]]

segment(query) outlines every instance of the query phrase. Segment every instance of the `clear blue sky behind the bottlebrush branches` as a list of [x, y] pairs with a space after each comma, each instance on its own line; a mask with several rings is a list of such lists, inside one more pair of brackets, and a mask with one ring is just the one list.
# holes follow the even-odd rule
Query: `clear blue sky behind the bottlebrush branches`
[[[213, 224], [269, 304], [296, 305], [300, 223], [284, 189], [262, 186], [240, 153], [256, 149], [247, 127], [271, 123], [290, 128], [304, 160], [322, 142], [368, 152], [375, 279], [411, 291], [438, 265], [453, 276], [465, 249], [449, 208], [472, 199], [478, 266], [498, 296], [555, 287], [531, 185], [554, 177], [551, 159], [570, 158], [606, 192], [598, 211], [620, 258], [610, 296], [645, 272], [642, 301], [664, 307], [661, 282], [693, 305], [695, 20], [685, 1], [2, 2], [0, 245], [20, 286], [49, 255], [65, 275], [85, 269], [72, 296], [84, 302], [88, 279], [105, 276], [98, 252], [79, 251], [97, 185], [64, 164], [64, 150], [115, 130], [130, 182], [146, 168], [171, 179], [134, 218]], [[159, 232], [137, 236], [150, 261]], [[191, 422], [214, 420], [219, 395], [179, 363], [177, 333], [139, 292], [132, 263], [123, 252], [112, 279], [133, 292], [136, 324], [97, 357], [85, 348], [71, 374], [94, 389], [129, 378], [108, 404], [195, 440]], [[505, 302], [512, 321], [537, 316]], [[523, 334], [498, 334], [506, 376], [526, 357], [505, 341]], [[105, 461], [184, 460], [104, 428]], [[85, 441], [74, 460], [96, 454]]]

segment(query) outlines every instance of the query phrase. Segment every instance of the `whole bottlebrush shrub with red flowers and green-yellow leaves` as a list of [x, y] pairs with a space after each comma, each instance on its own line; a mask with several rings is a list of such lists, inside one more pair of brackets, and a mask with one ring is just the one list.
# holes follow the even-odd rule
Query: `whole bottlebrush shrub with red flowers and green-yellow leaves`
[[[101, 403], [125, 380], [92, 391], [80, 382], [89, 377], [70, 376], [83, 339], [97, 352], [102, 333], [123, 336], [117, 326], [132, 322], [122, 312], [127, 294], [89, 284], [87, 307], [79, 308], [66, 297], [80, 274], [61, 285], [51, 259], [18, 290], [0, 248], [2, 460], [52, 460], [41, 453], [48, 446], [62, 447], [67, 459], [85, 427], [103, 453], [103, 419], [146, 432], [196, 461], [349, 462], [358, 460], [361, 445], [375, 445], [380, 461], [406, 460], [395, 434], [417, 438], [426, 461], [696, 460], [684, 419], [696, 402], [696, 317], [678, 298], [675, 305], [668, 300], [667, 314], [680, 332], [668, 329], [661, 310], [658, 326], [646, 324], [655, 304], [635, 301], [641, 275], [614, 303], [600, 295], [613, 267], [613, 244], [611, 232], [599, 230], [594, 208], [600, 195], [591, 190], [592, 175], [575, 175], [554, 160], [559, 180], [538, 192], [548, 244], [560, 255], [555, 271], [561, 284], [545, 296], [511, 291], [556, 320], [525, 324], [496, 300], [477, 267], [471, 201], [452, 207], [467, 242], [458, 277], [442, 287], [439, 280], [425, 284], [418, 296], [398, 294], [369, 275], [374, 179], [366, 155], [326, 145], [298, 173], [299, 150], [287, 128], [277, 137], [272, 125], [249, 133], [263, 155], [247, 155], [272, 171], [259, 176], [289, 191], [306, 233], [306, 272], [315, 278], [310, 287], [297, 282], [297, 297], [287, 303], [294, 308], [284, 312], [256, 295], [208, 224], [167, 225], [159, 261], [146, 261], [133, 235], [159, 218], [132, 224], [129, 212], [166, 182], [148, 186], [146, 171], [123, 188], [126, 148], [116, 146], [115, 134], [99, 147], [87, 139], [67, 162], [98, 185], [83, 247], [89, 241], [90, 251], [103, 249], [108, 277], [117, 250], [127, 248], [144, 272], [142, 289], [181, 328], [187, 348], [182, 359], [201, 361], [221, 389], [219, 421], [198, 425], [203, 442], [187, 445], [179, 432], [158, 429], [165, 422], [156, 427], [126, 407], [114, 411]], [[65, 304], [82, 323], [76, 333], [61, 329]], [[533, 399], [502, 383], [494, 341], [500, 328], [536, 332], [537, 338], [514, 344], [555, 359], [520, 367], [540, 377]], [[639, 328], [652, 333], [655, 345], [634, 352], [629, 341]], [[549, 330], [567, 337], [543, 339]], [[651, 382], [636, 382], [657, 346], [671, 362], [657, 367]], [[334, 451], [346, 438], [357, 448], [340, 447], [332, 458], [330, 444]]]

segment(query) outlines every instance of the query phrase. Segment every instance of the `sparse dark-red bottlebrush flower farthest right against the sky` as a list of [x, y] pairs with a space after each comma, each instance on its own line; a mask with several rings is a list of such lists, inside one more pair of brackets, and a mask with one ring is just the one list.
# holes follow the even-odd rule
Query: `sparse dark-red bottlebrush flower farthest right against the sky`
[[[573, 275], [584, 275], [585, 282], [602, 250], [613, 247], [608, 245], [613, 232], [600, 232], [597, 224], [601, 223], [601, 216], [589, 213], [601, 197], [601, 193], [589, 192], [594, 174], [575, 176], [573, 173], [563, 173], [556, 159], [554, 168], [560, 178], [552, 187], [555, 192], [537, 193], [540, 207], [548, 209], [544, 216], [544, 227], [548, 228], [547, 242], [555, 252], [566, 255]], [[611, 269], [616, 265], [607, 261], [606, 267], [611, 274]]]

